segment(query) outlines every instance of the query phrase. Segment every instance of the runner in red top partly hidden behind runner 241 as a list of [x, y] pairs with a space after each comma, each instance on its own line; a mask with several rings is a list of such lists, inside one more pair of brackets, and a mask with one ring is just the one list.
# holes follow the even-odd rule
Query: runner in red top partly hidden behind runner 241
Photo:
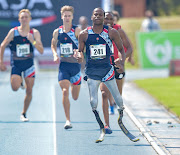
[[[108, 25], [109, 27], [116, 29], [119, 32], [120, 37], [123, 41], [123, 46], [124, 46], [126, 58], [130, 57], [132, 54], [131, 44], [129, 42], [127, 35], [121, 29], [121, 26], [117, 25], [117, 24], [113, 24], [113, 13], [112, 12], [106, 12], [105, 13], [104, 24]], [[112, 65], [115, 65], [115, 63], [114, 63], [115, 59], [119, 58], [119, 56], [121, 57], [121, 55], [118, 55], [118, 53], [119, 53], [119, 51], [118, 51], [115, 43], [113, 42], [112, 55], [111, 55], [111, 64]], [[114, 70], [115, 70], [116, 83], [117, 83], [119, 92], [122, 95], [122, 85], [123, 85], [123, 81], [124, 81], [123, 77], [125, 75], [125, 72], [118, 73], [116, 71], [116, 67], [114, 68]], [[114, 113], [114, 105], [113, 105], [114, 99], [113, 99], [111, 93], [109, 92], [108, 88], [106, 87], [106, 85], [104, 83], [100, 84], [100, 89], [102, 92], [102, 107], [103, 107], [103, 113], [104, 113], [104, 120], [105, 120], [105, 124], [106, 124], [105, 125], [105, 132], [106, 132], [106, 134], [111, 134], [112, 130], [109, 127], [108, 99], [110, 101], [111, 114]]]

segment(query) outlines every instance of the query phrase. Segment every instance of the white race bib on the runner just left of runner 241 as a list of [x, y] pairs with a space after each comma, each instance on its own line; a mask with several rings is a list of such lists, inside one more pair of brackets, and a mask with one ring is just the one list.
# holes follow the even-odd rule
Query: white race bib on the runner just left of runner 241
[[73, 55], [73, 48], [71, 43], [60, 44], [61, 57], [71, 57]]

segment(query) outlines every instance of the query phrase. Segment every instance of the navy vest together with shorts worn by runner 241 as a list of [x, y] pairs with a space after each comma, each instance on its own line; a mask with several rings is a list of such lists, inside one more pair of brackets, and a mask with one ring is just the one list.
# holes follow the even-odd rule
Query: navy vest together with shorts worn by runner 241
[[89, 78], [102, 81], [112, 68], [110, 64], [112, 41], [108, 35], [108, 26], [104, 25], [100, 34], [94, 33], [92, 27], [88, 27], [87, 30], [85, 72]]

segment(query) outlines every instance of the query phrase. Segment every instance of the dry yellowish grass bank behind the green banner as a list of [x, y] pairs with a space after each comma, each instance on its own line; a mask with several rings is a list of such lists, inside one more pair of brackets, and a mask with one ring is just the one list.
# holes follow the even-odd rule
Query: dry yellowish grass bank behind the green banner
[[[119, 20], [118, 24], [120, 24], [123, 30], [127, 33], [134, 48], [133, 52], [134, 52], [135, 66], [131, 66], [129, 63], [126, 63], [126, 68], [140, 67], [138, 54], [137, 54], [135, 33], [139, 31], [143, 19], [144, 18], [122, 18]], [[163, 17], [157, 17], [156, 19], [159, 21], [162, 30], [180, 29], [180, 16], [163, 16]]]

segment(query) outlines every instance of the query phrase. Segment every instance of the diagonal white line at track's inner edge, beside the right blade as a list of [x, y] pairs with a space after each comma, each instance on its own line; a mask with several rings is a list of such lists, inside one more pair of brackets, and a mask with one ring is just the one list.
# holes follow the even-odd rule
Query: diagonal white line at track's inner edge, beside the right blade
[[145, 130], [143, 125], [137, 120], [137, 118], [133, 115], [133, 113], [129, 110], [129, 108], [124, 105], [125, 111], [128, 114], [128, 116], [131, 118], [131, 120], [134, 122], [134, 124], [139, 128], [139, 131], [142, 133], [142, 135], [147, 139], [147, 141], [150, 143], [150, 145], [154, 148], [154, 150], [159, 155], [166, 155], [166, 153], [158, 146], [158, 144], [154, 141], [154, 139], [149, 135], [149, 133]]

